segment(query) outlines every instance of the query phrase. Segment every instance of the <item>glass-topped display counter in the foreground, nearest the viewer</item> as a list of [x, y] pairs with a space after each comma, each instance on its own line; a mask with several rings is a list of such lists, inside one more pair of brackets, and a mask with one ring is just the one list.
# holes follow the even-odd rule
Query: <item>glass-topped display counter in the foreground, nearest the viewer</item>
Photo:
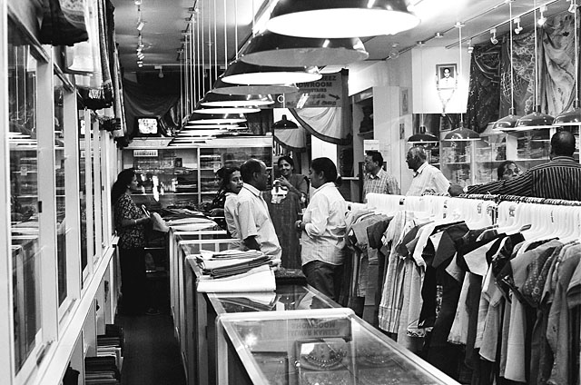
[[350, 309], [222, 314], [217, 384], [457, 384]]

